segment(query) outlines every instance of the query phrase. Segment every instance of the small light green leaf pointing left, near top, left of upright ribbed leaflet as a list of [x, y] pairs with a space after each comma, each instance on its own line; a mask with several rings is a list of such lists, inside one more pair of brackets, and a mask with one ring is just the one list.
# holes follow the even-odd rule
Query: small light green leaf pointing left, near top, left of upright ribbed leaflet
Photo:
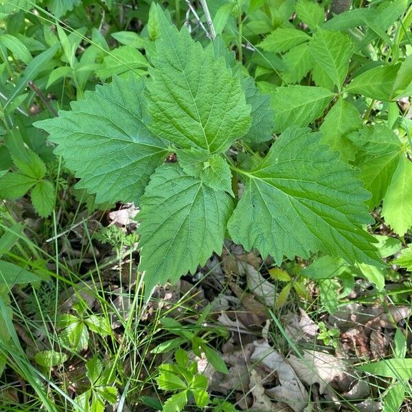
[[310, 40], [302, 30], [279, 27], [258, 44], [265, 52], [284, 53], [294, 46]]

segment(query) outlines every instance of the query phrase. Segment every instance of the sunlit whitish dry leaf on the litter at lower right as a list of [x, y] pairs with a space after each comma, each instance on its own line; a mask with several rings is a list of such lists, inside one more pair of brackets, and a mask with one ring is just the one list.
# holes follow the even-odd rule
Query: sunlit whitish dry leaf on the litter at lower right
[[347, 366], [343, 361], [323, 352], [305, 350], [303, 359], [290, 355], [288, 362], [306, 385], [318, 383], [321, 395], [328, 385], [339, 393], [346, 393], [354, 380], [347, 373]]

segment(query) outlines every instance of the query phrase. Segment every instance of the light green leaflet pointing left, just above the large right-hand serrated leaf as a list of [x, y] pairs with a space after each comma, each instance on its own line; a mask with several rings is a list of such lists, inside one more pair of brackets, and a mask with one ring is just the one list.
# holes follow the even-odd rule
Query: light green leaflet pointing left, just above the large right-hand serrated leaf
[[334, 93], [321, 87], [278, 87], [272, 93], [271, 107], [275, 111], [275, 132], [290, 126], [308, 126], [317, 119], [334, 97]]

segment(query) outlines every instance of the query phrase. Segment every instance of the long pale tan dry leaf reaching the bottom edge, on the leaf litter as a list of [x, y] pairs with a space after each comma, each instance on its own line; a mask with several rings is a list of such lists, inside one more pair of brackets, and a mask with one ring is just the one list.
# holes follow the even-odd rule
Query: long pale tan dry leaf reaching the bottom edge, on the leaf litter
[[251, 360], [262, 363], [271, 372], [276, 372], [280, 383], [280, 385], [267, 389], [266, 393], [275, 400], [286, 402], [295, 412], [304, 411], [308, 405], [308, 392], [288, 361], [267, 342], [253, 342], [253, 345], [255, 345], [255, 350]]

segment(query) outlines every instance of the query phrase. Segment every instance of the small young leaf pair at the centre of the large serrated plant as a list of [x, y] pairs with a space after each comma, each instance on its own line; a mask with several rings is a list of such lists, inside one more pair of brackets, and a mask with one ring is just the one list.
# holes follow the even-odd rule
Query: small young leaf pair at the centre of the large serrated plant
[[196, 148], [177, 150], [179, 165], [190, 176], [199, 177], [214, 190], [233, 195], [229, 164], [221, 155], [210, 155]]

